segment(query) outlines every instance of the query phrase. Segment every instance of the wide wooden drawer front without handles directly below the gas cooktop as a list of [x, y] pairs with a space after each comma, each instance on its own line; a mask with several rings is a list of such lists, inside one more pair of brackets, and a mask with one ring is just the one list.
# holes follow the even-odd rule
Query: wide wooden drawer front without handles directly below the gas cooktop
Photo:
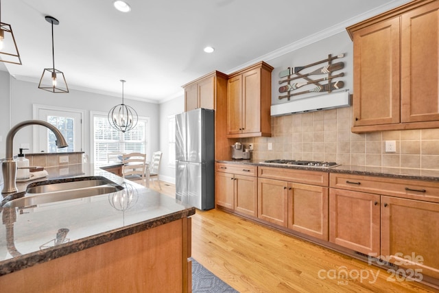
[[305, 183], [311, 185], [329, 186], [328, 172], [261, 166], [259, 166], [258, 170], [258, 176], [263, 178], [285, 180], [289, 182]]

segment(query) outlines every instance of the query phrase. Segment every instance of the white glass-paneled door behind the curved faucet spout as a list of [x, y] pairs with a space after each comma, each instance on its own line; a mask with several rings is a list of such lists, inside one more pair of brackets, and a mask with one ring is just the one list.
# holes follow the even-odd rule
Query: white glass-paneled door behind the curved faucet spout
[[57, 148], [54, 132], [47, 128], [38, 127], [38, 152], [82, 151], [82, 113], [39, 108], [38, 119], [56, 126], [69, 144], [67, 148]]

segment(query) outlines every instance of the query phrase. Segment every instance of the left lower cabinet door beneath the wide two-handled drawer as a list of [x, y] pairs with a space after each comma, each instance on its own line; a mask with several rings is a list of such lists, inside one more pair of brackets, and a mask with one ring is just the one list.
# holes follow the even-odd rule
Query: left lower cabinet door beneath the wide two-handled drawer
[[329, 241], [360, 253], [380, 252], [379, 195], [331, 188]]

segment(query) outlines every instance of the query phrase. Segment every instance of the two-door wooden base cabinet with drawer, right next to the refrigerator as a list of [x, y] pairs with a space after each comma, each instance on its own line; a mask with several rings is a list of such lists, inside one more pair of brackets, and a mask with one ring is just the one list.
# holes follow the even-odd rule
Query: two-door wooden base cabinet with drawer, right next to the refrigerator
[[257, 217], [256, 170], [257, 167], [251, 165], [216, 163], [216, 205]]

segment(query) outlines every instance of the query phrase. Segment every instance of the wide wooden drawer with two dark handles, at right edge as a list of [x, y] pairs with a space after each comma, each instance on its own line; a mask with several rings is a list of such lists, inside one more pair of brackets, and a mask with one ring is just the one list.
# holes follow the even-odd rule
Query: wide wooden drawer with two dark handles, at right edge
[[436, 182], [335, 173], [329, 178], [330, 187], [439, 202], [439, 183]]

